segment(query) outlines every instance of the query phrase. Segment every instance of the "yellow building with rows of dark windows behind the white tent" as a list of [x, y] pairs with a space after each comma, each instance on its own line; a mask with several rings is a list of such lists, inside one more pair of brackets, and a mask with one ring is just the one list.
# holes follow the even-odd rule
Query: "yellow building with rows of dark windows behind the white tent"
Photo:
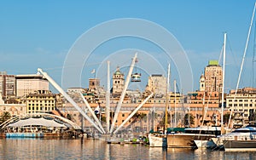
[[32, 94], [27, 94], [23, 103], [26, 104], [27, 113], [49, 113], [55, 110], [55, 94], [52, 94], [49, 90], [38, 90]]

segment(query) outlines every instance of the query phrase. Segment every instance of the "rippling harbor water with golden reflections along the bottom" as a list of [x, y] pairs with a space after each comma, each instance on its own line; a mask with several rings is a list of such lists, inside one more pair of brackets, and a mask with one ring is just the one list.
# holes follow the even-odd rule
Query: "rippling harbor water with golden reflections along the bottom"
[[0, 139], [0, 147], [0, 159], [256, 159], [256, 151], [193, 151], [89, 139]]

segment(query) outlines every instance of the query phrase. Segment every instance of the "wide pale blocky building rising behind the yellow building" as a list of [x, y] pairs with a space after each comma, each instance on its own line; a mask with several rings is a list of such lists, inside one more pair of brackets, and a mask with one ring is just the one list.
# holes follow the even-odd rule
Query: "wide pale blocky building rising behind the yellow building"
[[17, 75], [15, 78], [17, 97], [22, 97], [26, 94], [32, 94], [34, 91], [38, 90], [49, 90], [49, 82], [42, 75]]

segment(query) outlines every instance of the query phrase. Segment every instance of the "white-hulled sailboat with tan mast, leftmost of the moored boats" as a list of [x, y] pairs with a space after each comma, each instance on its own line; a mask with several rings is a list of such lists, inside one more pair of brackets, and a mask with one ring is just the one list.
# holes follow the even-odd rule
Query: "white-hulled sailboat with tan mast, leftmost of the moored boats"
[[170, 64], [168, 65], [168, 72], [167, 72], [167, 86], [166, 86], [166, 119], [165, 119], [165, 129], [162, 134], [148, 134], [148, 141], [149, 146], [157, 146], [157, 147], [166, 147], [167, 146], [167, 109], [168, 109], [168, 102], [169, 102], [169, 79], [170, 79]]

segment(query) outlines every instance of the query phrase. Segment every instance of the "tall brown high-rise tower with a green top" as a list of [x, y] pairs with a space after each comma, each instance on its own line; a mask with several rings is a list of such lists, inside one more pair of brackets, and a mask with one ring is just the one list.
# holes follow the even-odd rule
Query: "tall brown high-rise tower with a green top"
[[218, 60], [209, 60], [205, 68], [205, 91], [222, 91], [222, 67], [218, 65]]

